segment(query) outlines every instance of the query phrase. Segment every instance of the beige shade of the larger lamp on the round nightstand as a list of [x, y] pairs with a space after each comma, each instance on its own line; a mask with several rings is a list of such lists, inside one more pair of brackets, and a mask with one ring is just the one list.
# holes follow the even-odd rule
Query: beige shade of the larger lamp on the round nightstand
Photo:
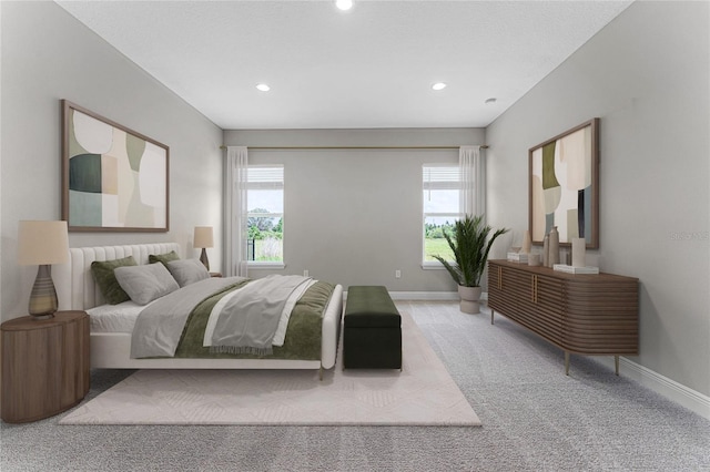
[[69, 260], [67, 222], [20, 222], [18, 263], [23, 266], [63, 264]]

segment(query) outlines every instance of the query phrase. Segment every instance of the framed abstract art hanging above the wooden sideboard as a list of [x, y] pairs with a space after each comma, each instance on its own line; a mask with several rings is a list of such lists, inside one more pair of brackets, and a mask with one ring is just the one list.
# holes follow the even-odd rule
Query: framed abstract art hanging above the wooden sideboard
[[529, 229], [542, 244], [552, 226], [560, 246], [585, 238], [599, 247], [599, 119], [529, 150]]

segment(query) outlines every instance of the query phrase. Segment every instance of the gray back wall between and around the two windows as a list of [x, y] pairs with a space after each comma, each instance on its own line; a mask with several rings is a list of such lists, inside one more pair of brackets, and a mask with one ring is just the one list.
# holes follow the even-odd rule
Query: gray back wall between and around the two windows
[[[226, 131], [227, 145], [460, 146], [480, 129]], [[393, 291], [453, 293], [447, 273], [422, 268], [422, 164], [458, 150], [250, 151], [250, 164], [284, 165], [284, 270]], [[395, 270], [402, 278], [395, 278]]]

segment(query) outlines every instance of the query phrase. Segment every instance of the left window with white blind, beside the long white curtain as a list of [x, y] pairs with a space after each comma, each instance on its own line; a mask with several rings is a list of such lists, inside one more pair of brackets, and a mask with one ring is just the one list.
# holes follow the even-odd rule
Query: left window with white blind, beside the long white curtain
[[283, 264], [284, 166], [250, 165], [246, 179], [248, 264]]

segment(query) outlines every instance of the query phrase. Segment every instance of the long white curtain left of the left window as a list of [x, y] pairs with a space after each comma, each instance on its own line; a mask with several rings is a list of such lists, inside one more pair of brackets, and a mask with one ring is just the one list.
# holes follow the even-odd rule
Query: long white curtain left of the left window
[[244, 146], [227, 146], [225, 188], [225, 275], [246, 277], [247, 275], [247, 202], [246, 184], [248, 157]]

